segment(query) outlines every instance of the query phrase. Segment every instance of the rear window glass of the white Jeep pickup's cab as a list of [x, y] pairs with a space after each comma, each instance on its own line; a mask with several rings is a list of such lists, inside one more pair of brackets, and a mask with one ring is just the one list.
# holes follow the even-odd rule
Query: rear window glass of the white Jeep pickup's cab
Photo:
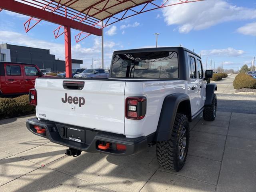
[[173, 51], [116, 54], [111, 77], [178, 78], [178, 54]]

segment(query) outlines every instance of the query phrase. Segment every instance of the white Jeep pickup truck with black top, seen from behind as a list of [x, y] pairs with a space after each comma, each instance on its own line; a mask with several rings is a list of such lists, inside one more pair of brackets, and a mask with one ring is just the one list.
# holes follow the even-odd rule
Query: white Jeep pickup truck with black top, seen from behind
[[131, 155], [156, 144], [160, 166], [179, 171], [186, 161], [189, 122], [216, 116], [216, 84], [200, 56], [182, 47], [116, 51], [110, 77], [37, 78], [30, 90], [36, 118], [28, 130], [81, 151]]

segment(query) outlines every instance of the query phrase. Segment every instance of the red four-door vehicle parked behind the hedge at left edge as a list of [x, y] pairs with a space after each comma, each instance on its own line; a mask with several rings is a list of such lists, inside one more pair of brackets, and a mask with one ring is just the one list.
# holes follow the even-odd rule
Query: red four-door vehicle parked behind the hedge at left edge
[[0, 97], [26, 94], [42, 72], [35, 64], [0, 62]]

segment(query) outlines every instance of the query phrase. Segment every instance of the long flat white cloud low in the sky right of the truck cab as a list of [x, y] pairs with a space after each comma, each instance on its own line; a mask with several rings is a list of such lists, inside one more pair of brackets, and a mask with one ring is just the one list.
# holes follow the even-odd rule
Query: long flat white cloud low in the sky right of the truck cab
[[229, 57], [236, 57], [244, 54], [243, 50], [236, 50], [234, 48], [226, 48], [226, 49], [211, 49], [211, 50], [202, 50], [202, 56], [229, 56]]

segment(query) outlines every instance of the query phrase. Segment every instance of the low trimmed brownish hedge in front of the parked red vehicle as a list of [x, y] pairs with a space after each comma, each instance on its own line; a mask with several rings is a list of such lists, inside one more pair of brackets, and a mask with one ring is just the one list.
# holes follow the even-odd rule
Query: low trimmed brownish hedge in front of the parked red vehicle
[[35, 107], [28, 103], [28, 95], [0, 98], [0, 119], [32, 114]]

